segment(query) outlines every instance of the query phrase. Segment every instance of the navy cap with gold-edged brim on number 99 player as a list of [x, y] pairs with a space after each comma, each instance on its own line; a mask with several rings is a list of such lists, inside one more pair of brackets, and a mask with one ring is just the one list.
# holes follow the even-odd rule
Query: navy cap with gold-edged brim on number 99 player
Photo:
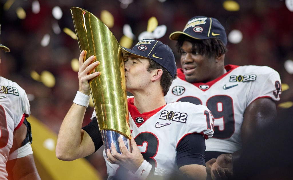
[[178, 40], [179, 36], [182, 34], [194, 39], [199, 39], [199, 40], [217, 37], [220, 40], [222, 40], [225, 46], [227, 44], [227, 36], [226, 36], [225, 28], [215, 18], [208, 18], [205, 16], [195, 16], [187, 22], [183, 32], [181, 31], [173, 32], [171, 33], [169, 38], [171, 40]]

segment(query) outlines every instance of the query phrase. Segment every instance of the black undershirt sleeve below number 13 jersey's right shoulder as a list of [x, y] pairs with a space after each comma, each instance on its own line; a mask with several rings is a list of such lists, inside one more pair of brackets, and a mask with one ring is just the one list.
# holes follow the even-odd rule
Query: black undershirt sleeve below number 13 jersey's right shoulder
[[205, 138], [198, 133], [185, 136], [176, 148], [178, 168], [188, 164], [205, 166]]

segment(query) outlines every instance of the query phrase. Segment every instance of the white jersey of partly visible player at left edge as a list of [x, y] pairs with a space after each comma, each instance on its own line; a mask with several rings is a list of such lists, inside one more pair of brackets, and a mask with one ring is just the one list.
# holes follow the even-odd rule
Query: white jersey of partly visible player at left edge
[[13, 131], [30, 115], [25, 91], [15, 82], [0, 76], [0, 179], [6, 179], [6, 162], [13, 143]]

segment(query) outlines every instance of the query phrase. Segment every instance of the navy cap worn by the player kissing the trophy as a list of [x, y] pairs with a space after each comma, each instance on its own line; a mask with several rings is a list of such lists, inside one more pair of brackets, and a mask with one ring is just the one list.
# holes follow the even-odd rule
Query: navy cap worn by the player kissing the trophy
[[121, 47], [130, 54], [153, 59], [163, 66], [174, 78], [177, 72], [174, 54], [171, 48], [161, 41], [143, 39], [133, 46], [132, 49]]

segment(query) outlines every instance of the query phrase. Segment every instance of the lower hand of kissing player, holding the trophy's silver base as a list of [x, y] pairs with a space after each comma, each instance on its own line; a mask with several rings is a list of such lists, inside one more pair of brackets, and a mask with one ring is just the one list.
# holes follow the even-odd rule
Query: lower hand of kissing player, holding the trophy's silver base
[[132, 171], [133, 173], [136, 172], [142, 164], [142, 162], [144, 161], [144, 158], [142, 157], [142, 154], [139, 148], [137, 147], [136, 142], [132, 137], [130, 140], [132, 152], [129, 152], [122, 138], [119, 137], [118, 140], [122, 155], [120, 155], [120, 153], [116, 151], [115, 145], [111, 143], [112, 153], [110, 149], [107, 149], [107, 160], [112, 164], [122, 165], [123, 167]]

